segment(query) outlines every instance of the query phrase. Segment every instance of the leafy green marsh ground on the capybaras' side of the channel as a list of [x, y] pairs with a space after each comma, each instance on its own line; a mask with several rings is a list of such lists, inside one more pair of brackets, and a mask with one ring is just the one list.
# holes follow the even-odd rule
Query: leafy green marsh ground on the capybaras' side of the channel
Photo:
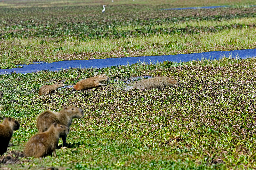
[[[0, 75], [0, 117], [21, 122], [12, 151], [22, 152], [37, 133], [36, 116], [75, 105], [85, 110], [74, 119], [68, 148], [57, 158], [21, 158], [16, 169], [243, 169], [255, 165], [256, 59], [134, 64], [105, 69]], [[38, 96], [41, 85], [106, 73], [107, 86], [83, 92], [61, 89]], [[173, 76], [181, 86], [124, 91], [130, 76]], [[79, 77], [80, 76], [80, 77]], [[79, 78], [78, 78], [79, 77]], [[114, 81], [118, 77], [120, 80]], [[9, 103], [10, 100], [18, 103]], [[121, 104], [122, 103], [122, 104]], [[60, 141], [61, 142], [61, 141]], [[20, 146], [17, 148], [17, 146]]]

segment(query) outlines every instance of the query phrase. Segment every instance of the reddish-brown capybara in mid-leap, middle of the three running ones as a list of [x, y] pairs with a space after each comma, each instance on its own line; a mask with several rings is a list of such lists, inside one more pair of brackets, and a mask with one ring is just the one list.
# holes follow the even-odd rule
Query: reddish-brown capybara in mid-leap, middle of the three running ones
[[109, 80], [109, 77], [104, 74], [94, 76], [91, 78], [86, 78], [84, 80], [80, 80], [79, 82], [77, 82], [76, 85], [74, 85], [72, 91], [88, 90], [88, 89], [92, 89], [94, 87], [104, 86], [106, 84], [103, 84], [103, 82], [108, 81], [108, 80]]

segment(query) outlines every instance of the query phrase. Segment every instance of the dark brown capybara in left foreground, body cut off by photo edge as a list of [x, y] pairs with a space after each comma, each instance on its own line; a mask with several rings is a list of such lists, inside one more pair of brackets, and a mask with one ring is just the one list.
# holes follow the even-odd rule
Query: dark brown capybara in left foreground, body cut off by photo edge
[[0, 155], [7, 151], [14, 130], [20, 128], [20, 123], [11, 117], [4, 118], [0, 124]]

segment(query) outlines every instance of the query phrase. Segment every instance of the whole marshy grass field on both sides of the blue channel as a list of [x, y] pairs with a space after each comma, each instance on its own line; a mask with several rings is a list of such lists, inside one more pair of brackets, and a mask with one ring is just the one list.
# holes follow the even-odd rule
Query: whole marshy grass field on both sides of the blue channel
[[[148, 2], [1, 1], [0, 68], [255, 48], [254, 1]], [[209, 5], [233, 6], [160, 11]], [[21, 124], [0, 169], [255, 169], [255, 68], [256, 58], [224, 58], [0, 75], [0, 117]], [[102, 73], [110, 81], [101, 88], [37, 94], [42, 85], [72, 86]], [[180, 86], [125, 91], [135, 76], [169, 76]], [[36, 116], [70, 105], [85, 114], [73, 120], [68, 147], [57, 149], [56, 158], [24, 157], [24, 145], [38, 132]]]

